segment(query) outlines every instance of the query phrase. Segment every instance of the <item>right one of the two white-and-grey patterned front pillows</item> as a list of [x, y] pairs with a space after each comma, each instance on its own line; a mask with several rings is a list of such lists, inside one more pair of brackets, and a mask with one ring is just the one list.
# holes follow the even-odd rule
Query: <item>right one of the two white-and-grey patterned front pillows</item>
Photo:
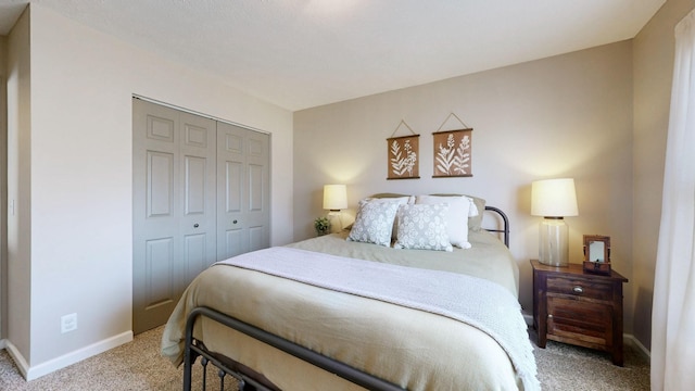
[[397, 239], [393, 248], [453, 251], [446, 230], [448, 205], [406, 204], [399, 207]]

